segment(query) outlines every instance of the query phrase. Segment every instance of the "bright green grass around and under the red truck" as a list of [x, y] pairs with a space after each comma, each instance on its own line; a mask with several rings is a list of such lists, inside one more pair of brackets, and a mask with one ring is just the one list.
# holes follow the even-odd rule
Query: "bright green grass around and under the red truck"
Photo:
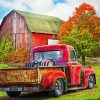
[[[7, 68], [7, 65], [0, 64], [0, 67]], [[97, 84], [93, 89], [86, 89], [86, 90], [77, 90], [77, 91], [70, 91], [64, 93], [62, 96], [58, 98], [53, 98], [48, 96], [46, 93], [37, 93], [37, 94], [22, 94], [21, 97], [18, 99], [21, 100], [100, 100], [100, 63], [94, 63], [92, 68], [96, 71], [96, 78]], [[5, 92], [0, 92], [0, 96], [6, 96]], [[27, 98], [26, 98], [27, 97]], [[26, 98], [26, 99], [25, 99]]]

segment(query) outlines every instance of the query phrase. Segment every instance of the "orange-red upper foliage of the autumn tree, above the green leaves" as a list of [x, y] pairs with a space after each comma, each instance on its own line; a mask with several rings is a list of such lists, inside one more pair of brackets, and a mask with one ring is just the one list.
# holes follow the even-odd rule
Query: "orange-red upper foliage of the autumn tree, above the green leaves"
[[59, 30], [59, 39], [69, 30], [79, 26], [81, 30], [88, 30], [94, 37], [100, 37], [100, 18], [96, 17], [96, 12], [93, 6], [83, 3], [78, 8], [75, 8], [73, 16], [68, 21], [62, 24]]

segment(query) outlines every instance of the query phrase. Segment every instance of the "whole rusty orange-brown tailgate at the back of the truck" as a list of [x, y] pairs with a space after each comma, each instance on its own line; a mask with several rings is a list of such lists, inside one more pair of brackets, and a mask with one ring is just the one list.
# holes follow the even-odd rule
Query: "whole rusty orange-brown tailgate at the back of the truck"
[[37, 69], [1, 69], [0, 85], [36, 83], [37, 73]]

